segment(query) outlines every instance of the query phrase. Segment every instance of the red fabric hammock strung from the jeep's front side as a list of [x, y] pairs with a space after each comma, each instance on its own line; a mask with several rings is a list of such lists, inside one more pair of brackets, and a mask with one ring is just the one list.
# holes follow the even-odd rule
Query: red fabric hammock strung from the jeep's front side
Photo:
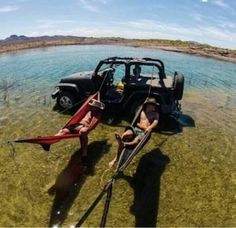
[[[63, 129], [69, 128], [70, 126], [73, 126], [74, 124], [79, 123], [85, 117], [85, 115], [89, 111], [89, 102], [92, 99], [96, 99], [97, 101], [100, 101], [99, 92], [88, 97], [88, 99], [84, 102], [84, 104], [80, 107], [80, 109], [74, 114], [74, 116], [68, 121], [68, 123], [63, 127]], [[92, 120], [89, 125], [89, 131], [93, 130], [97, 126], [97, 124], [100, 121], [100, 118], [101, 118], [101, 112], [99, 112], [99, 114], [97, 114], [96, 116], [92, 117]], [[14, 142], [40, 144], [45, 151], [49, 151], [51, 144], [57, 143], [62, 139], [70, 139], [70, 138], [75, 138], [79, 136], [80, 136], [79, 133], [73, 133], [73, 134], [66, 133], [65, 135], [58, 135], [58, 136], [50, 135], [50, 136], [38, 136], [35, 138], [17, 139]]]

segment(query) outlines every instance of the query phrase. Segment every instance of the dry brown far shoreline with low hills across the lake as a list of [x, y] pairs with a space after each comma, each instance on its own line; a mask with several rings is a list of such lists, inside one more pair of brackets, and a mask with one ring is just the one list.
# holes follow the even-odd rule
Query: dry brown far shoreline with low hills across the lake
[[93, 38], [76, 36], [26, 37], [12, 35], [5, 40], [0, 40], [0, 54], [30, 48], [43, 48], [60, 45], [99, 44], [156, 48], [165, 51], [204, 56], [208, 58], [236, 63], [236, 50], [212, 47], [210, 45], [203, 45], [196, 42], [161, 39]]

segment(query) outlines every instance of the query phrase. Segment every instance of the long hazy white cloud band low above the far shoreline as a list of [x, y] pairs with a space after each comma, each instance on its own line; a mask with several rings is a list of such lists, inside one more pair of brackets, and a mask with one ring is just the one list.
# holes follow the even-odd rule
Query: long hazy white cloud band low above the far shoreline
[[[66, 22], [66, 21], [65, 21]], [[75, 22], [73, 22], [75, 23]], [[225, 25], [226, 26], [226, 25]], [[228, 24], [227, 26], [235, 26]], [[141, 39], [172, 39], [192, 40], [210, 45], [236, 49], [236, 32], [232, 29], [222, 29], [210, 25], [198, 25], [184, 27], [174, 23], [163, 23], [153, 20], [127, 21], [113, 23], [111, 25], [89, 24], [84, 26], [76, 23], [74, 26], [64, 29], [65, 26], [41, 27], [37, 32], [31, 32], [31, 36], [39, 35], [76, 35], [88, 37], [124, 37]]]

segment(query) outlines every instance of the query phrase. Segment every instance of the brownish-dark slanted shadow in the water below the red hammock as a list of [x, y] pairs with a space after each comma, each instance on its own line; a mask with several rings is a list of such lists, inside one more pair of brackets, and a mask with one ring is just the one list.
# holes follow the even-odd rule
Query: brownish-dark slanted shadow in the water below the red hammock
[[88, 146], [88, 167], [85, 170], [80, 150], [76, 151], [58, 175], [55, 184], [48, 190], [50, 195], [55, 194], [51, 209], [49, 226], [61, 225], [67, 217], [75, 198], [79, 194], [87, 175], [94, 174], [94, 166], [102, 155], [109, 151], [107, 140], [92, 142]]

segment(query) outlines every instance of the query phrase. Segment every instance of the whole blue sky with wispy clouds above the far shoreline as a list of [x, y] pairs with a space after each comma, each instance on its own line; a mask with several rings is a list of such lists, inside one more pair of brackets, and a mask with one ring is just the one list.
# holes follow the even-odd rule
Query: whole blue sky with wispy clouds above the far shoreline
[[236, 0], [0, 0], [11, 34], [162, 38], [236, 49]]

